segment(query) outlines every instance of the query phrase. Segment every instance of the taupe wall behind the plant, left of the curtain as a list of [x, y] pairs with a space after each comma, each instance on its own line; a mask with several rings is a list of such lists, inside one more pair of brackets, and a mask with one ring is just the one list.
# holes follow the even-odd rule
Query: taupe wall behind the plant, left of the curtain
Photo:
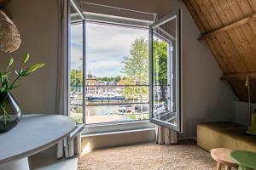
[[20, 31], [20, 48], [12, 54], [1, 54], [0, 68], [9, 56], [15, 58], [19, 68], [21, 57], [31, 54], [29, 64], [44, 62], [45, 67], [26, 80], [14, 91], [23, 112], [54, 113], [56, 92], [57, 57], [57, 1], [14, 0], [7, 7], [9, 14]]

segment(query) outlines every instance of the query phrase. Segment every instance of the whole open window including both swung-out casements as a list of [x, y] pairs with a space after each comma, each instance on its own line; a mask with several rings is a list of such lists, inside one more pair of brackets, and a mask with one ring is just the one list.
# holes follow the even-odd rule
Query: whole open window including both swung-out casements
[[180, 131], [180, 11], [149, 26], [155, 14], [71, 2], [69, 116], [97, 133], [150, 122]]

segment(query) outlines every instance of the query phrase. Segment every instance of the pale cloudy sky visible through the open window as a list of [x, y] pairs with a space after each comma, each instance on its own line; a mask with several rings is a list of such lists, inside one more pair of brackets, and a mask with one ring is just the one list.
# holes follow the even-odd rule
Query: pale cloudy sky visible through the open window
[[[71, 29], [71, 68], [81, 69], [83, 56], [82, 25]], [[148, 40], [148, 31], [120, 26], [86, 24], [86, 72], [96, 77], [122, 76], [122, 61], [129, 57], [137, 38]]]

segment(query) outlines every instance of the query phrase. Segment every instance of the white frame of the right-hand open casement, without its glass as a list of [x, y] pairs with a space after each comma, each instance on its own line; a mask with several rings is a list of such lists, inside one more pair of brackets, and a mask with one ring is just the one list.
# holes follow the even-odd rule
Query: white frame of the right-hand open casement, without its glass
[[[175, 64], [175, 71], [173, 71], [173, 74], [176, 75], [176, 81], [174, 83], [172, 83], [173, 86], [175, 86], [176, 91], [175, 91], [175, 111], [168, 111], [168, 113], [176, 113], [176, 117], [177, 117], [177, 124], [176, 126], [162, 121], [160, 119], [156, 119], [154, 118], [154, 92], [153, 92], [153, 85], [154, 85], [154, 73], [153, 73], [153, 29], [161, 26], [162, 24], [165, 24], [166, 22], [172, 20], [173, 18], [177, 19], [177, 35], [176, 35], [176, 56], [175, 58], [172, 58], [172, 60], [174, 60], [174, 64]], [[149, 99], [149, 111], [150, 111], [150, 122], [153, 122], [155, 124], [158, 124], [160, 126], [163, 127], [168, 127], [168, 128], [172, 128], [173, 130], [176, 130], [177, 132], [183, 132], [183, 111], [182, 111], [182, 50], [181, 50], [181, 9], [178, 9], [176, 13], [173, 14], [168, 14], [165, 17], [161, 18], [160, 20], [156, 21], [154, 24], [152, 24], [151, 26], [149, 26], [149, 68], [150, 68], [150, 76], [149, 76], [149, 94], [150, 94], [150, 99]], [[169, 51], [169, 50], [168, 50]], [[171, 68], [172, 69], [172, 68]], [[172, 77], [172, 75], [170, 75]]]

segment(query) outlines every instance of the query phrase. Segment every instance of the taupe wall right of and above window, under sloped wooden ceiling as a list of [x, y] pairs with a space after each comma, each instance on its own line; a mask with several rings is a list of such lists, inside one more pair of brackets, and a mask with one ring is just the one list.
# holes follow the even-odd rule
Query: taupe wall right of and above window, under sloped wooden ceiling
[[[235, 121], [231, 88], [219, 80], [223, 72], [181, 0], [87, 0], [132, 8], [160, 16], [183, 9], [183, 137], [195, 136], [198, 122]], [[150, 2], [150, 3], [149, 3]]]

